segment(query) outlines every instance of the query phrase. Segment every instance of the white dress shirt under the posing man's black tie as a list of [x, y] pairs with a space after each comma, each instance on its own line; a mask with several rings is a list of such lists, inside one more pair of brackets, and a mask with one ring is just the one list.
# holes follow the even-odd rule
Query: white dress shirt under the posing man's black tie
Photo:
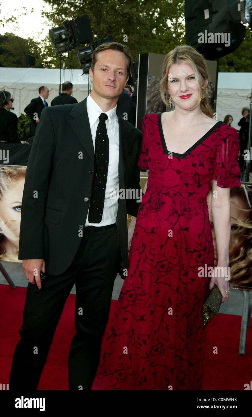
[[102, 109], [95, 103], [91, 95], [87, 97], [87, 114], [92, 134], [93, 145], [95, 149], [95, 135], [99, 123], [99, 116], [101, 113], [107, 114], [105, 121], [107, 128], [107, 136], [109, 138], [109, 163], [107, 171], [107, 184], [105, 189], [104, 208], [102, 213], [102, 220], [100, 223], [89, 223], [88, 213], [85, 226], [107, 226], [114, 224], [117, 216], [118, 201], [116, 198], [111, 199], [111, 190], [117, 190], [119, 187], [119, 124], [116, 115], [116, 106], [109, 111], [102, 111]]

